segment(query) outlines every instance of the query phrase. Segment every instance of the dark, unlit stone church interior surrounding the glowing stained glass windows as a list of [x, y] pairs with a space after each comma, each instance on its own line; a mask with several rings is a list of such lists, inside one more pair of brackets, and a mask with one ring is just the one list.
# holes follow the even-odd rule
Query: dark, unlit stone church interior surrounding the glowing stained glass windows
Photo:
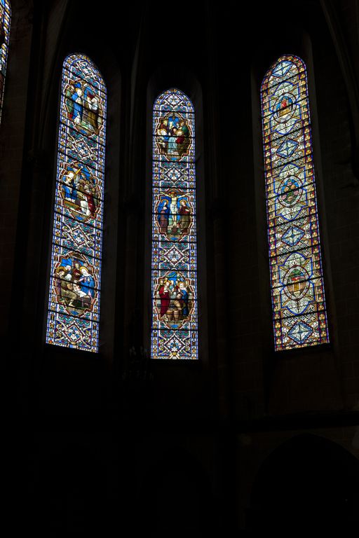
[[[359, 525], [359, 4], [11, 0], [0, 125], [8, 536]], [[2, 37], [4, 39], [4, 36]], [[46, 343], [62, 65], [107, 85], [100, 347]], [[330, 342], [275, 351], [260, 90], [305, 62]], [[152, 107], [196, 114], [198, 360], [151, 360]], [[146, 351], [144, 351], [146, 350]]]

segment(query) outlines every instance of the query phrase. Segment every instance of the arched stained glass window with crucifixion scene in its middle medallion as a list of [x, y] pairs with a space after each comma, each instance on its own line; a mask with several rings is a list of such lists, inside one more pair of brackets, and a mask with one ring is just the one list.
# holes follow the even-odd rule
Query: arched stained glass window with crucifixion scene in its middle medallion
[[154, 104], [152, 359], [197, 359], [194, 107], [183, 92]]

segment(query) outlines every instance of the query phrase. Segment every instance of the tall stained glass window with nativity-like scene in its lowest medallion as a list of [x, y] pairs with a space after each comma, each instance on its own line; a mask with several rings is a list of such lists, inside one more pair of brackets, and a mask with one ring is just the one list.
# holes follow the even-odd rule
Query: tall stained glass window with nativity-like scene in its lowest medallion
[[62, 70], [46, 342], [97, 352], [106, 88], [90, 58]]

